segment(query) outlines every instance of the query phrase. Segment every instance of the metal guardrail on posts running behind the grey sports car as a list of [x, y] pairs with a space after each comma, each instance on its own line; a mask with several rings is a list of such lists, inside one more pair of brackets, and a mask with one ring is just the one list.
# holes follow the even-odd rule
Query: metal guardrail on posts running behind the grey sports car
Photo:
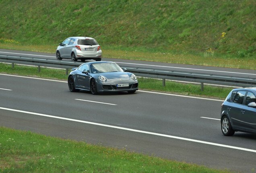
[[[23, 56], [8, 56], [0, 55], [0, 62], [9, 62], [14, 64], [29, 64], [38, 66], [40, 71], [40, 66], [55, 67], [55, 68], [64, 68], [66, 69], [66, 74], [68, 74], [68, 69], [78, 67], [83, 62], [70, 62], [62, 60], [51, 60], [43, 58], [31, 58]], [[194, 72], [180, 72], [172, 70], [157, 70], [150, 68], [132, 68], [126, 67], [128, 72], [134, 73], [136, 76], [149, 77], [149, 78], [161, 78], [163, 79], [163, 85], [165, 86], [165, 79], [170, 80], [180, 80], [188, 82], [200, 82], [201, 90], [203, 91], [204, 83], [209, 84], [221, 84], [237, 87], [256, 87], [256, 78], [243, 78], [236, 76], [224, 76], [224, 75], [215, 75], [215, 74], [203, 74], [203, 73], [194, 73]]]

